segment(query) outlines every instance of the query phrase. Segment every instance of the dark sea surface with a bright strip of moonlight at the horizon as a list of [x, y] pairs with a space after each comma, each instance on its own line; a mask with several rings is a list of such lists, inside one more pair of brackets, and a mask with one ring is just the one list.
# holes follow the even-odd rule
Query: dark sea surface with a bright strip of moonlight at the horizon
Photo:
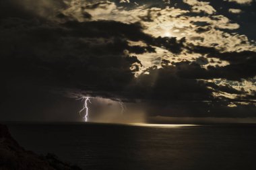
[[10, 123], [26, 150], [82, 169], [256, 169], [256, 126]]

